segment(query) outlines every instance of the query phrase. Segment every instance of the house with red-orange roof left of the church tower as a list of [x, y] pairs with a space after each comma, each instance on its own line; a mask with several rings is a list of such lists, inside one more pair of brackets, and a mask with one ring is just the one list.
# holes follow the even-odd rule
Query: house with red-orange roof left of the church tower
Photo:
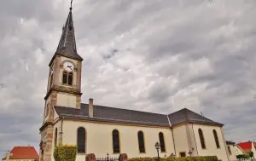
[[[10, 151], [9, 161], [37, 161], [39, 159], [38, 152], [34, 147], [14, 147]], [[3, 158], [6, 161], [6, 156]]]

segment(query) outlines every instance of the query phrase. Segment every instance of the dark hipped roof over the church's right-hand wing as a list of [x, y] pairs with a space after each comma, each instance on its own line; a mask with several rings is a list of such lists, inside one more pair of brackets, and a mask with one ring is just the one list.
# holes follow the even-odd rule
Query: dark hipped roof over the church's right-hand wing
[[190, 111], [187, 108], [183, 108], [177, 112], [173, 112], [168, 115], [172, 125], [183, 124], [183, 123], [199, 123], [199, 124], [216, 124], [223, 125], [212, 121], [211, 119], [205, 118], [200, 114]]

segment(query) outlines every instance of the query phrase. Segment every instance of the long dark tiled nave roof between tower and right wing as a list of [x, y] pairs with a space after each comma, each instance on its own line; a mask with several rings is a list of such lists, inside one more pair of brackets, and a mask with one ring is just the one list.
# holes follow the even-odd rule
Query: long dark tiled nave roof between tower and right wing
[[67, 118], [83, 118], [119, 123], [169, 126], [167, 116], [158, 113], [138, 112], [121, 108], [94, 105], [94, 115], [93, 118], [90, 118], [88, 110], [88, 104], [81, 104], [81, 109], [55, 106], [57, 114]]

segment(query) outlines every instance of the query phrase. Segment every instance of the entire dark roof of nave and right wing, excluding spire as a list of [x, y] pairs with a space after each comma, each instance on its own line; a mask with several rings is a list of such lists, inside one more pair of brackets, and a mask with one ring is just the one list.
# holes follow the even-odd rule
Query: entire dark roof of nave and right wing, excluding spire
[[208, 118], [202, 117], [201, 115], [196, 114], [195, 112], [191, 112], [186, 108], [178, 112], [174, 112], [170, 115], [152, 112], [139, 112], [134, 110], [98, 105], [93, 105], [93, 109], [94, 115], [93, 118], [90, 118], [88, 114], [88, 104], [81, 104], [81, 109], [64, 106], [55, 106], [55, 112], [59, 115], [60, 118], [65, 117], [74, 119], [97, 120], [113, 123], [148, 124], [166, 127], [170, 127], [169, 120], [171, 121], [172, 125], [187, 123], [188, 120], [189, 122], [193, 120], [194, 123], [223, 125], [218, 124]]

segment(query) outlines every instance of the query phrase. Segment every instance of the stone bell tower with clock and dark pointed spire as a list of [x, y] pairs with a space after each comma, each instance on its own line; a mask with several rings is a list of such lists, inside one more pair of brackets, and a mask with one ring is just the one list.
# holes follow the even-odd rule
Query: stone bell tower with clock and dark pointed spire
[[77, 53], [71, 3], [60, 42], [49, 61], [44, 118], [40, 128], [40, 161], [51, 161], [53, 158], [53, 124], [56, 119], [54, 106], [80, 108], [82, 61], [83, 58]]

